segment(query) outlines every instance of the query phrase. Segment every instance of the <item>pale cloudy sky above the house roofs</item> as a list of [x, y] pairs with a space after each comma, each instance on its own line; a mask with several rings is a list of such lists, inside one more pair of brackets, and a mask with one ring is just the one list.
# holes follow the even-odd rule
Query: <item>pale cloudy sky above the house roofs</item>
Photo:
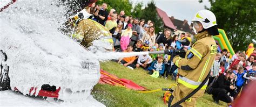
[[[143, 5], [147, 5], [151, 0], [130, 0], [133, 4], [138, 2], [143, 2]], [[205, 9], [204, 6], [208, 8], [211, 6], [208, 0], [204, 0], [203, 3], [199, 3], [198, 0], [154, 0], [156, 6], [165, 11], [169, 17], [174, 16], [174, 18], [179, 20], [188, 20], [188, 24], [191, 23], [191, 19], [194, 14]]]

